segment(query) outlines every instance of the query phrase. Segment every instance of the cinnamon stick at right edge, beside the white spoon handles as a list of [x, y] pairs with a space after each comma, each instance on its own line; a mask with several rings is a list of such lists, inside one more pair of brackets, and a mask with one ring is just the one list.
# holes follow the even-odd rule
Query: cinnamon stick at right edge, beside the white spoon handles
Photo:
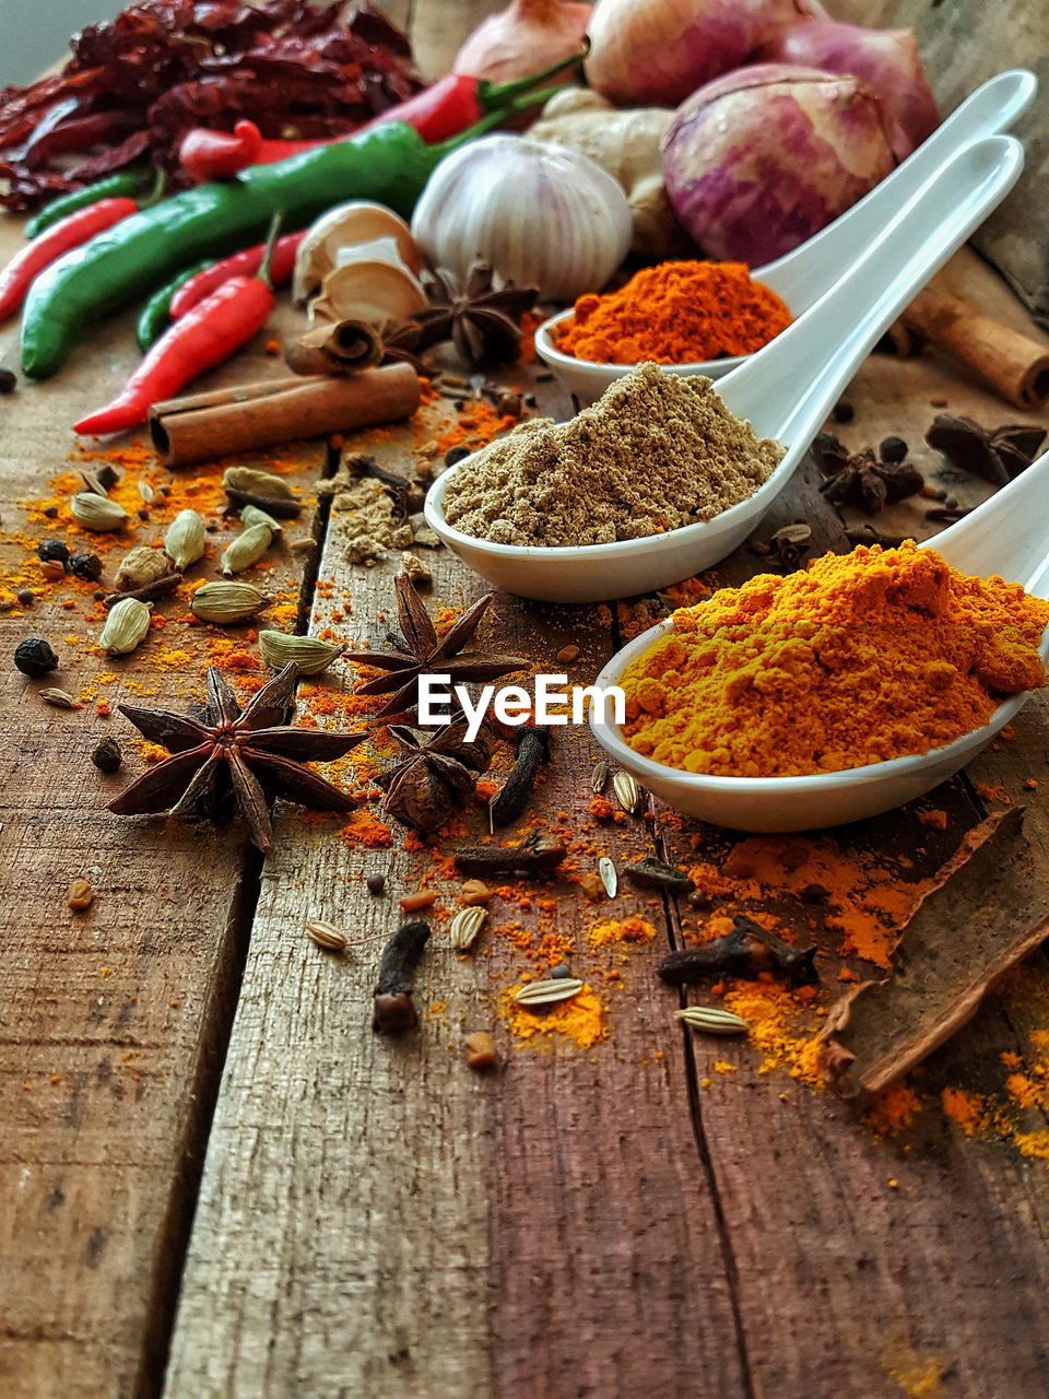
[[904, 322], [1015, 407], [1041, 409], [1049, 399], [1049, 347], [985, 316], [943, 283], [919, 291]]

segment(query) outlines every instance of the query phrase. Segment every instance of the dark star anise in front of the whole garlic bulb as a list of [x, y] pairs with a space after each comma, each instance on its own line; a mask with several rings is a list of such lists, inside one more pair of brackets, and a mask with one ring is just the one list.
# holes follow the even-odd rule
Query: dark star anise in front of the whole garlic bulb
[[471, 368], [509, 364], [520, 353], [520, 318], [531, 311], [537, 287], [492, 283], [492, 269], [477, 262], [460, 283], [446, 267], [438, 267], [436, 304], [420, 311], [420, 350], [452, 340], [460, 360]]

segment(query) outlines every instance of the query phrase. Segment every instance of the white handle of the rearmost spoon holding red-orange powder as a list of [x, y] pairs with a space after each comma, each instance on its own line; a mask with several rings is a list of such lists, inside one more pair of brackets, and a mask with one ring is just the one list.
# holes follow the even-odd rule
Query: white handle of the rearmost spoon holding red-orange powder
[[1038, 78], [1027, 69], [987, 78], [869, 194], [799, 248], [758, 267], [754, 277], [768, 283], [789, 306], [818, 301], [955, 151], [982, 136], [1007, 132], [1036, 92]]

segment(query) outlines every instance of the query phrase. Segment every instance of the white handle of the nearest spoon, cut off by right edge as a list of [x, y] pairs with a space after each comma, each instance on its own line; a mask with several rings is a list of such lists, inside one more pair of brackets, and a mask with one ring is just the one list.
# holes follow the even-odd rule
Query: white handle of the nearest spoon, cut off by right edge
[[997, 574], [1022, 583], [1036, 597], [1049, 597], [1049, 452], [978, 505], [965, 519], [926, 540], [966, 574]]

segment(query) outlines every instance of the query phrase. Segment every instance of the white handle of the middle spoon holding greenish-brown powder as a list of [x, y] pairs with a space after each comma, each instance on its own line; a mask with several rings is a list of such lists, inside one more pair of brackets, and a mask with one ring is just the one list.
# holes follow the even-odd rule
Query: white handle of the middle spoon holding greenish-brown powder
[[807, 446], [870, 350], [1022, 168], [1024, 147], [1011, 136], [959, 151], [814, 306], [719, 381], [732, 411], [764, 436]]

